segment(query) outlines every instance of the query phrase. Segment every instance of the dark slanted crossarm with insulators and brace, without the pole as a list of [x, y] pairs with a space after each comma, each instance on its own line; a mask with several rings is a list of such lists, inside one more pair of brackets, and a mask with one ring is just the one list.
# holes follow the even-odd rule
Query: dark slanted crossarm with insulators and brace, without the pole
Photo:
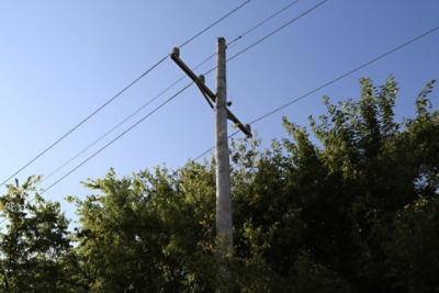
[[[180, 59], [180, 49], [173, 48], [171, 53], [171, 59], [181, 68], [181, 70], [187, 74], [190, 79], [195, 82], [196, 87], [200, 89], [201, 93], [206, 99], [207, 103], [213, 108], [213, 103], [216, 103], [216, 95], [204, 84], [204, 76], [198, 77], [181, 59]], [[212, 101], [212, 102], [211, 102]], [[249, 124], [244, 125], [228, 109], [227, 109], [227, 119], [230, 120], [238, 128], [247, 135], [247, 137], [251, 137], [251, 127]]]

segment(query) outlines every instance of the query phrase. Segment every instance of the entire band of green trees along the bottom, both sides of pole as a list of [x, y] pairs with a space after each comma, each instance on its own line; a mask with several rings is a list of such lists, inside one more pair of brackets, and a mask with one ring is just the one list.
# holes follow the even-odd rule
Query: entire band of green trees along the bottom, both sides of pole
[[[398, 86], [360, 80], [359, 100], [331, 103], [260, 150], [230, 145], [234, 256], [241, 292], [439, 292], [439, 111], [427, 83], [397, 122]], [[85, 184], [78, 226], [34, 188], [0, 196], [4, 292], [210, 292], [215, 161], [189, 161]]]

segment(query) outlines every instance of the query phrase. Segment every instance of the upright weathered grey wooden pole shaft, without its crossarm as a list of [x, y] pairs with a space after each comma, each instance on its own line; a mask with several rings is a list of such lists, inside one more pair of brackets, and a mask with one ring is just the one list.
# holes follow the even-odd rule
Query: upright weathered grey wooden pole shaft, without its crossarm
[[[233, 255], [230, 165], [227, 138], [227, 92], [226, 92], [226, 44], [217, 40], [216, 103], [215, 103], [215, 159], [216, 159], [216, 236], [219, 261], [224, 263]], [[223, 281], [228, 272], [221, 268]]]

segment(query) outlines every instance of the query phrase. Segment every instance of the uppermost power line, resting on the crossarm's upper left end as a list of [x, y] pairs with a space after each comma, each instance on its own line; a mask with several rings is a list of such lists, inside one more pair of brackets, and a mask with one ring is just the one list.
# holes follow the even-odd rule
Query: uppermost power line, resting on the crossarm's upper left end
[[[190, 42], [194, 41], [196, 37], [222, 22], [223, 20], [227, 19], [229, 15], [234, 14], [236, 11], [248, 4], [251, 0], [246, 0], [243, 2], [237, 8], [233, 9], [232, 11], [227, 12], [225, 15], [221, 16], [218, 20], [214, 21], [212, 24], [206, 26], [205, 29], [201, 30], [187, 41], [184, 41], [179, 48], [182, 48]], [[117, 99], [122, 93], [124, 93], [126, 90], [128, 90], [131, 87], [133, 87], [137, 81], [139, 81], [143, 77], [148, 75], [150, 71], [153, 71], [156, 67], [158, 67], [161, 63], [164, 63], [167, 58], [169, 57], [169, 54], [160, 58], [156, 64], [154, 64], [149, 69], [147, 69], [145, 72], [143, 72], [139, 77], [134, 79], [132, 82], [130, 82], [125, 88], [123, 88], [121, 91], [119, 91], [115, 95], [110, 98], [106, 102], [104, 102], [102, 105], [100, 105], [98, 109], [95, 109], [93, 112], [91, 112], [87, 117], [85, 117], [82, 121], [80, 121], [78, 124], [76, 124], [72, 128], [70, 128], [67, 133], [61, 135], [59, 138], [57, 138], [54, 143], [52, 143], [48, 147], [46, 147], [43, 151], [37, 154], [33, 159], [27, 161], [23, 167], [21, 167], [19, 170], [13, 172], [10, 177], [8, 177], [3, 182], [0, 183], [0, 185], [4, 185], [9, 180], [11, 180], [13, 177], [15, 177], [18, 173], [23, 171], [25, 168], [27, 168], [31, 164], [33, 164], [35, 160], [41, 158], [44, 154], [46, 154], [48, 150], [50, 150], [53, 147], [55, 147], [57, 144], [59, 144], [61, 140], [64, 140], [67, 136], [69, 136], [72, 132], [75, 132], [77, 128], [79, 128], [82, 124], [85, 124], [87, 121], [89, 121], [92, 116], [94, 116], [98, 112], [100, 112], [102, 109], [104, 109], [106, 105], [109, 105], [111, 102], [113, 102], [115, 99]]]

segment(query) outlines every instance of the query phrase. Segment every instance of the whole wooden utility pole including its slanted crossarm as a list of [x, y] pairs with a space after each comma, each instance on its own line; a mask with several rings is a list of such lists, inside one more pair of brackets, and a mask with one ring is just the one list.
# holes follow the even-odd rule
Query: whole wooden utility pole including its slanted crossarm
[[[173, 48], [171, 59], [195, 82], [207, 103], [215, 110], [215, 160], [216, 160], [216, 238], [221, 262], [222, 281], [228, 282], [225, 261], [233, 256], [232, 199], [230, 199], [230, 162], [228, 156], [227, 119], [251, 137], [250, 125], [244, 125], [227, 109], [226, 83], [226, 41], [217, 38], [216, 44], [216, 94], [205, 84], [204, 77], [196, 75], [180, 59], [180, 52]], [[217, 292], [221, 292], [219, 290]]]

